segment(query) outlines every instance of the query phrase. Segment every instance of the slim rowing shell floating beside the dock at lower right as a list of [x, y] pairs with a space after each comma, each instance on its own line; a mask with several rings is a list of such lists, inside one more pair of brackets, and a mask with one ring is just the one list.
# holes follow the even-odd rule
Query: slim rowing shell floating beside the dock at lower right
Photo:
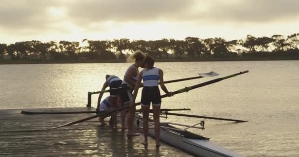
[[[136, 114], [134, 128], [142, 131], [142, 116]], [[149, 123], [149, 136], [155, 137], [153, 124]], [[223, 148], [209, 138], [181, 130], [167, 123], [161, 123], [160, 140], [196, 157], [243, 157]]]

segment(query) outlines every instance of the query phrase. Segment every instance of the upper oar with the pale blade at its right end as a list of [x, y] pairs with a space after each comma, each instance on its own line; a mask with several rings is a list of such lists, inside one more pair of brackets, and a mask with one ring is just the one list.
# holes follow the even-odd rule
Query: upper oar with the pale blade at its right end
[[[198, 77], [181, 78], [181, 79], [174, 79], [174, 80], [164, 81], [164, 84], [180, 82], [180, 81], [185, 81], [185, 80], [191, 80], [191, 79], [197, 79], [197, 78], [215, 77], [215, 76], [218, 76], [219, 74], [217, 74], [215, 72], [209, 72], [209, 73], [202, 73], [202, 74], [198, 74], [198, 75], [199, 75]], [[142, 86], [140, 86], [140, 87], [142, 87]], [[110, 92], [112, 90], [120, 90], [120, 89], [125, 89], [125, 88], [128, 88], [128, 87], [112, 88], [112, 89], [108, 89], [108, 90], [102, 90], [102, 91], [90, 92], [90, 93], [91, 94], [100, 94], [100, 93], [107, 93], [107, 92]]]

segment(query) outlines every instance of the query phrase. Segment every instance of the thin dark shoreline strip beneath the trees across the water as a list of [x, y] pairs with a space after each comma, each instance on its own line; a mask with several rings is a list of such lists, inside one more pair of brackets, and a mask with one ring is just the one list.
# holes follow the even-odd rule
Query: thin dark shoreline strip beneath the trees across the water
[[[156, 59], [156, 62], [211, 62], [211, 61], [270, 61], [299, 60], [299, 57], [263, 57], [263, 58], [184, 58]], [[0, 64], [73, 64], [73, 63], [125, 63], [124, 59], [79, 59], [79, 60], [13, 60], [0, 61]]]

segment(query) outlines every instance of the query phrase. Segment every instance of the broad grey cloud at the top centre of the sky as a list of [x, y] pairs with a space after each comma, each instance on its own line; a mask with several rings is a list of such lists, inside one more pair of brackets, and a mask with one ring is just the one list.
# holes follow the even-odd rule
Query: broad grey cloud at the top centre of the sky
[[184, 14], [195, 0], [80, 0], [69, 3], [68, 15], [79, 21], [154, 21]]

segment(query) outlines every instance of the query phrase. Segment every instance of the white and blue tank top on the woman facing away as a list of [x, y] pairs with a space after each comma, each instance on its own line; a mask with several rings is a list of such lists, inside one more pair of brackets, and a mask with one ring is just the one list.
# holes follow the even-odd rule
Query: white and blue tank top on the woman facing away
[[159, 69], [153, 67], [152, 69], [142, 70], [142, 79], [143, 79], [143, 86], [146, 87], [158, 86], [159, 79], [160, 79]]

